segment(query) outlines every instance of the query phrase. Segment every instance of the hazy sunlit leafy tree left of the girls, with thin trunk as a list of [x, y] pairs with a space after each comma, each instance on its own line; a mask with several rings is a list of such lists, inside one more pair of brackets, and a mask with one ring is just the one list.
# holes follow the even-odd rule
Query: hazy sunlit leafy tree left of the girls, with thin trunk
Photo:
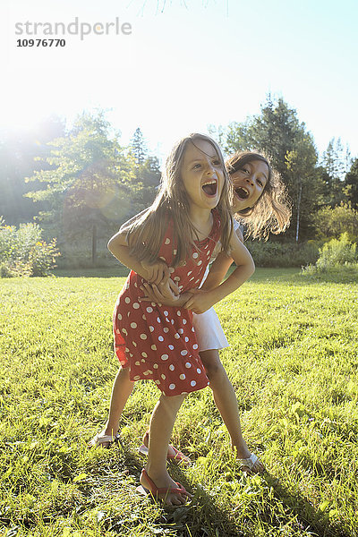
[[70, 240], [90, 234], [94, 260], [98, 230], [108, 233], [114, 221], [121, 222], [132, 212], [132, 159], [116, 136], [110, 137], [103, 112], [83, 113], [71, 132], [49, 145], [51, 154], [45, 161], [51, 169], [29, 179], [46, 183], [46, 188], [28, 196], [46, 200], [48, 210], [39, 217], [57, 234], [63, 231]]

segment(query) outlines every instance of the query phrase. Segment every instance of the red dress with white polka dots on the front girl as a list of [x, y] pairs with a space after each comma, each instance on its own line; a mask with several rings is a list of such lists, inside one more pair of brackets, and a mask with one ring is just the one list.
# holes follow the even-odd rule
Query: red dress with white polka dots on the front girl
[[[217, 209], [212, 211], [213, 226], [209, 236], [196, 242], [198, 251], [171, 275], [181, 292], [198, 287], [212, 251], [220, 238]], [[159, 251], [159, 257], [171, 266], [175, 255], [173, 222]], [[152, 379], [166, 396], [190, 393], [209, 384], [200, 360], [198, 342], [192, 326], [192, 311], [175, 306], [139, 302], [143, 296], [143, 278], [131, 271], [115, 303], [115, 354], [130, 379]]]

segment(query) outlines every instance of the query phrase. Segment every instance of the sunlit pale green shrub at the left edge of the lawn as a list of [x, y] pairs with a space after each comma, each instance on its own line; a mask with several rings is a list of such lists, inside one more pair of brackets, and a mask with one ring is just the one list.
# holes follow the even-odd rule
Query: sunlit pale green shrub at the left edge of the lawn
[[42, 239], [37, 224], [6, 226], [0, 217], [0, 277], [48, 276], [60, 255], [55, 239]]

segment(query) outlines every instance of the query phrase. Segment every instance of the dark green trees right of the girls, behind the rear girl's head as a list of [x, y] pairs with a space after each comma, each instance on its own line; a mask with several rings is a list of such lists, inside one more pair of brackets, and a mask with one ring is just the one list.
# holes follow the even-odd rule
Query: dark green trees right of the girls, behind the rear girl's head
[[335, 219], [335, 208], [340, 208], [345, 231], [358, 234], [358, 158], [351, 157], [339, 138], [329, 141], [319, 158], [311, 132], [283, 98], [268, 95], [259, 115], [226, 127], [211, 125], [209, 130], [227, 154], [250, 149], [268, 156], [293, 203], [286, 238], [298, 242], [322, 236], [320, 226], [327, 227], [328, 220]]

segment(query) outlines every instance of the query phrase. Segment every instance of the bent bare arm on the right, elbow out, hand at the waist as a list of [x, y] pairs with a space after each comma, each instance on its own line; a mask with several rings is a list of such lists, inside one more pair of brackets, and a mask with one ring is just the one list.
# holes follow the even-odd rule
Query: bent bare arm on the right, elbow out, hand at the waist
[[233, 293], [238, 287], [252, 276], [255, 265], [250, 252], [240, 242], [236, 234], [233, 234], [230, 243], [231, 256], [236, 264], [232, 274], [220, 286], [209, 291], [192, 289], [192, 298], [185, 303], [184, 307], [194, 313], [203, 313], [209, 310], [215, 303], [220, 302], [227, 294]]

